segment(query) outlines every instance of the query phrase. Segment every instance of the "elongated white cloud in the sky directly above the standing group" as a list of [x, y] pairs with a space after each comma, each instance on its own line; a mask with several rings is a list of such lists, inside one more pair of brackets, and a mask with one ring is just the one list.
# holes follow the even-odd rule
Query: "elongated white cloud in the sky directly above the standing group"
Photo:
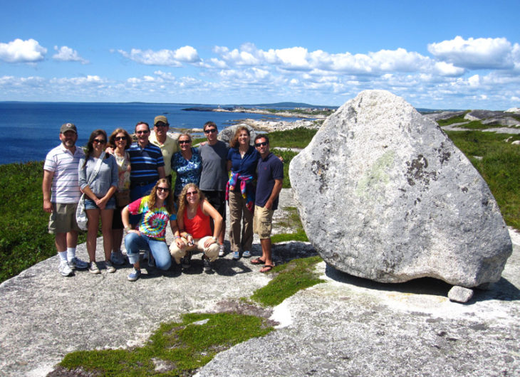
[[132, 48], [130, 53], [118, 50], [118, 53], [125, 58], [145, 65], [170, 65], [172, 67], [182, 67], [182, 63], [197, 63], [201, 59], [197, 50], [191, 46], [184, 46], [177, 50], [162, 49], [159, 51], [140, 50]]

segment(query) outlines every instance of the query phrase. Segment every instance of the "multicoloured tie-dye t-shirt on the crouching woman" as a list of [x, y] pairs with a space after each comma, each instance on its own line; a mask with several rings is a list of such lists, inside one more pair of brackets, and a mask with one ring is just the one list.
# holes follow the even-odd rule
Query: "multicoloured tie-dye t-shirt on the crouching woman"
[[177, 220], [175, 213], [168, 213], [166, 207], [154, 208], [153, 211], [148, 208], [149, 196], [143, 196], [137, 201], [132, 201], [128, 204], [128, 210], [132, 215], [143, 213], [141, 223], [139, 224], [139, 231], [142, 235], [150, 238], [155, 238], [158, 241], [166, 240], [166, 226], [168, 220]]

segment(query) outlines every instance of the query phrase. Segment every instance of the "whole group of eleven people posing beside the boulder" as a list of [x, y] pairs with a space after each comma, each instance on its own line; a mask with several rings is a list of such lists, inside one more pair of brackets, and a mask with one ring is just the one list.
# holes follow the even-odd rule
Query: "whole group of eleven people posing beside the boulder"
[[[217, 139], [217, 125], [207, 122], [207, 142], [195, 148], [189, 134], [177, 141], [168, 136], [169, 126], [167, 117], [157, 116], [150, 135], [149, 125], [138, 122], [135, 143], [125, 129], [115, 129], [110, 137], [96, 129], [85, 151], [76, 147], [76, 126], [61, 126], [61, 144], [48, 152], [43, 166], [43, 210], [51, 213], [48, 230], [55, 234], [61, 275], [87, 268], [100, 273], [95, 260], [99, 221], [107, 272], [125, 262], [120, 248], [124, 233], [133, 265], [130, 281], [141, 275], [140, 251], [145, 251], [149, 265], [161, 270], [170, 268], [172, 258], [187, 269], [192, 253], [199, 251], [204, 271], [211, 272], [212, 262], [226, 253], [227, 201], [232, 259], [251, 256], [257, 233], [262, 255], [251, 263], [264, 265], [261, 272], [274, 267], [271, 223], [284, 169], [269, 152], [269, 137], [258, 135], [252, 147], [249, 129], [239, 127], [228, 148]], [[76, 210], [83, 197], [89, 262], [76, 257]], [[168, 222], [175, 238], [170, 248], [165, 240]]]

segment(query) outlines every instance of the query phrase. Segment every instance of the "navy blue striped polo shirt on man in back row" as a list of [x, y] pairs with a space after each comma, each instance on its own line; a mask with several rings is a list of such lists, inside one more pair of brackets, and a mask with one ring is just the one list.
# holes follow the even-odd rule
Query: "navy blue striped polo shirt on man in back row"
[[159, 179], [157, 168], [165, 166], [162, 152], [159, 147], [152, 143], [146, 144], [141, 148], [134, 143], [127, 149], [130, 155], [130, 184], [152, 183]]

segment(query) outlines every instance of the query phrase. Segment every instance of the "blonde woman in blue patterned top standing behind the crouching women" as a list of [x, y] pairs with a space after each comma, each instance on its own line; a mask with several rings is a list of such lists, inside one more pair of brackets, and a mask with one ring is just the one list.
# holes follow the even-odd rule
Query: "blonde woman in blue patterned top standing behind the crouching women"
[[172, 171], [177, 173], [175, 179], [175, 198], [180, 195], [182, 188], [187, 184], [199, 185], [202, 161], [199, 150], [192, 147], [192, 137], [182, 134], [178, 139], [180, 152], [172, 156]]

